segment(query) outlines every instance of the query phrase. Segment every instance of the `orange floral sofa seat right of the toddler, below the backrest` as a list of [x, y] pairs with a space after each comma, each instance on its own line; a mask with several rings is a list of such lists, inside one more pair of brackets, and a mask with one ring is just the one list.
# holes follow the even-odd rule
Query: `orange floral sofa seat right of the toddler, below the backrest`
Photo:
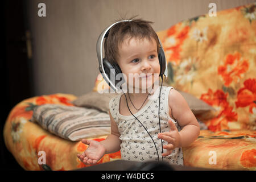
[[[200, 137], [183, 148], [184, 166], [224, 170], [256, 170], [256, 131], [201, 130]], [[215, 154], [216, 163], [212, 162]]]

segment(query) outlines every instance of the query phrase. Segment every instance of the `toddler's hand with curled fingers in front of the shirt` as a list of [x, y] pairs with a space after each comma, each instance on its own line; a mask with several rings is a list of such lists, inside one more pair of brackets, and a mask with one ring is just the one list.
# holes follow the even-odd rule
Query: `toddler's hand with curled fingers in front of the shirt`
[[158, 134], [158, 138], [166, 140], [168, 142], [167, 145], [163, 146], [163, 148], [166, 149], [167, 152], [163, 153], [162, 156], [170, 155], [176, 147], [181, 146], [181, 137], [179, 131], [177, 130], [177, 127], [171, 121], [171, 119], [168, 122], [171, 126], [171, 130], [169, 132]]

